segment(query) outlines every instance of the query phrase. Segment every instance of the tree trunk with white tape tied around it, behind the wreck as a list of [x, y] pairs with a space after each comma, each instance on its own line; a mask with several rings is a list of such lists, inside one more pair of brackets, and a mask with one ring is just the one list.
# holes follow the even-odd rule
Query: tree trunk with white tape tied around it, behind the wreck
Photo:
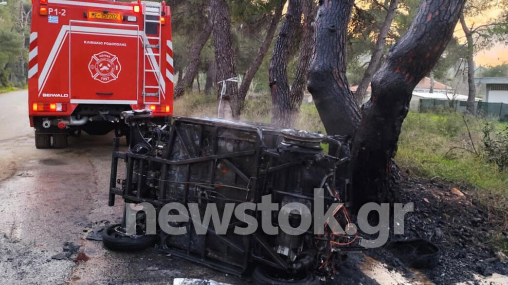
[[[221, 117], [240, 119], [241, 102], [238, 98], [238, 83], [227, 81], [237, 77], [233, 43], [231, 40], [231, 15], [226, 0], [210, 0], [210, 10], [213, 22], [213, 47], [215, 51], [215, 74], [217, 81], [217, 99], [221, 99]], [[226, 84], [226, 93], [221, 95], [222, 85]]]

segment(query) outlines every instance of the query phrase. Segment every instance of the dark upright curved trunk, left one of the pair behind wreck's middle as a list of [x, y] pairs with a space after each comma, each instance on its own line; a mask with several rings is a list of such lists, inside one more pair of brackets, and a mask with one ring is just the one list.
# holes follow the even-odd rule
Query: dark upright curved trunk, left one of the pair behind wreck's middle
[[268, 70], [272, 95], [272, 124], [283, 124], [291, 108], [288, 100], [290, 89], [287, 66], [296, 31], [300, 26], [301, 8], [299, 0], [289, 0], [288, 11], [285, 14], [284, 21], [282, 21], [273, 48], [272, 60]]

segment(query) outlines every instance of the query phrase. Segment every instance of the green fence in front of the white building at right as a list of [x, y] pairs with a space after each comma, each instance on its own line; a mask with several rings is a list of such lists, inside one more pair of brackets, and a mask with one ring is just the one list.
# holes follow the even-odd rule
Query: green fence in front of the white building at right
[[[420, 112], [431, 112], [443, 109], [455, 112], [466, 112], [466, 101], [420, 99], [418, 108]], [[506, 103], [474, 102], [474, 113], [477, 116], [499, 118], [500, 121], [508, 122], [508, 104]]]

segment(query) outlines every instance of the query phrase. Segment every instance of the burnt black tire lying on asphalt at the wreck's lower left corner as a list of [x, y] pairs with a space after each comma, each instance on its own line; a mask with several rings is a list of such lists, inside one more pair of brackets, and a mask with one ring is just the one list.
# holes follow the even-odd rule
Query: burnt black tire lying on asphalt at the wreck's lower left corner
[[157, 235], [126, 235], [122, 232], [120, 224], [109, 225], [102, 231], [104, 246], [117, 252], [141, 251], [153, 246], [157, 239]]

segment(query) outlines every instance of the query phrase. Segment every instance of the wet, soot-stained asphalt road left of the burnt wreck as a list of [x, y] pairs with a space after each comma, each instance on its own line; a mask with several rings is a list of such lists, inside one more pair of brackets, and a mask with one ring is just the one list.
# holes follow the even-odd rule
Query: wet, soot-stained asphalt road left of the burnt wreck
[[0, 283], [245, 283], [156, 250], [116, 253], [85, 239], [121, 217], [121, 200], [107, 205], [112, 141], [83, 134], [67, 149], [38, 150], [26, 90], [0, 94]]

